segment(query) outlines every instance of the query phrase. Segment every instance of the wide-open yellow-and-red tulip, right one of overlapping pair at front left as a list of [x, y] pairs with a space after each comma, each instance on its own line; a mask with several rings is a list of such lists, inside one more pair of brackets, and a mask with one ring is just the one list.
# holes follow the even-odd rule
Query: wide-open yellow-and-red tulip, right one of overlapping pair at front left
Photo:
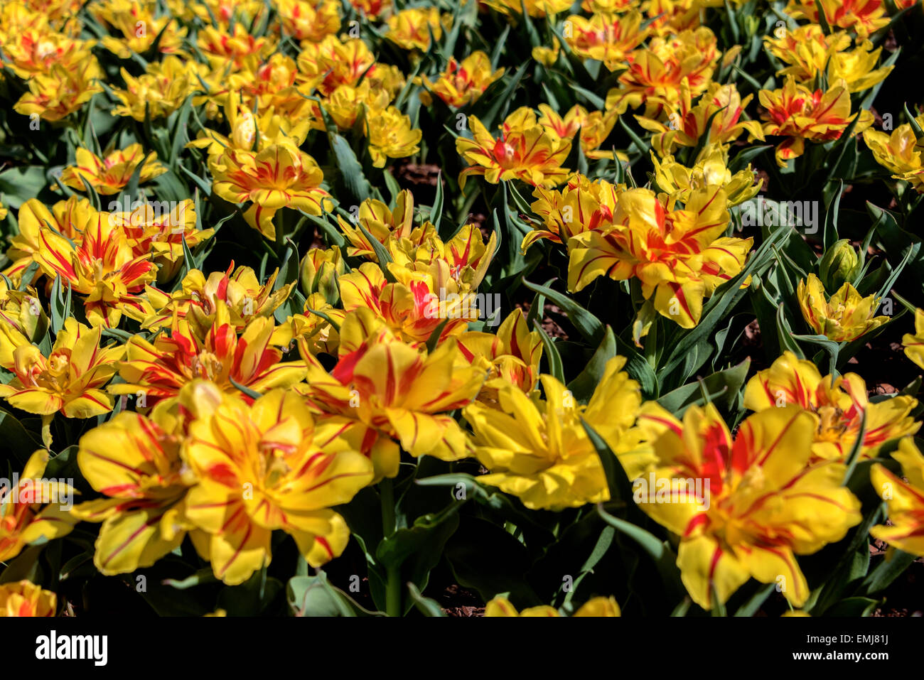
[[181, 403], [192, 414], [185, 457], [198, 477], [186, 514], [208, 535], [194, 544], [215, 577], [237, 585], [268, 565], [276, 529], [313, 567], [343, 553], [349, 529], [331, 508], [372, 479], [361, 431], [349, 438], [346, 419], [316, 422], [298, 395], [282, 390], [248, 407], [201, 381]]

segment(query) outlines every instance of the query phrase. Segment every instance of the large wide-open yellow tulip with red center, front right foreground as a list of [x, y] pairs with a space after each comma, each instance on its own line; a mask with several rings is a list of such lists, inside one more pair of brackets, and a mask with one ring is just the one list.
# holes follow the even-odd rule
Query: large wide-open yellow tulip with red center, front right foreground
[[658, 464], [636, 481], [636, 501], [680, 537], [677, 566], [692, 600], [711, 609], [754, 577], [802, 606], [808, 583], [796, 555], [843, 539], [861, 519], [841, 485], [845, 466], [809, 464], [817, 418], [795, 405], [768, 408], [733, 441], [711, 404], [689, 407], [682, 422], [663, 409], [647, 417], [660, 431]]

